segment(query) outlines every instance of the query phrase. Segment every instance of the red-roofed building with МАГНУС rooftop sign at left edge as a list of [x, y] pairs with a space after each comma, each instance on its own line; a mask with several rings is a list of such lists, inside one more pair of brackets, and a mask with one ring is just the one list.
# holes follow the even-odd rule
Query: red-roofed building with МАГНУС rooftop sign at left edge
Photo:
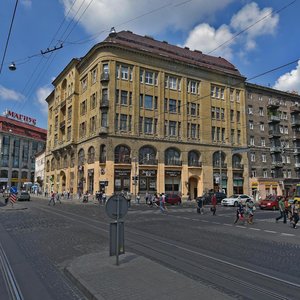
[[6, 111], [0, 116], [0, 189], [34, 183], [35, 154], [45, 149], [47, 131], [35, 119]]

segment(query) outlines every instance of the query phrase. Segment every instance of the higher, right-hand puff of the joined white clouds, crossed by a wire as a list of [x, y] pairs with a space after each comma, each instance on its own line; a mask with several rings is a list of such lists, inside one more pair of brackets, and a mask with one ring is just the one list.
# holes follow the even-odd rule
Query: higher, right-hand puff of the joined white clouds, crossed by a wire
[[252, 50], [256, 47], [255, 38], [274, 34], [278, 22], [279, 16], [278, 14], [273, 14], [272, 8], [266, 7], [260, 10], [257, 3], [252, 2], [245, 5], [231, 18], [230, 26], [236, 32], [245, 30], [250, 26], [244, 35], [246, 36], [246, 49]]

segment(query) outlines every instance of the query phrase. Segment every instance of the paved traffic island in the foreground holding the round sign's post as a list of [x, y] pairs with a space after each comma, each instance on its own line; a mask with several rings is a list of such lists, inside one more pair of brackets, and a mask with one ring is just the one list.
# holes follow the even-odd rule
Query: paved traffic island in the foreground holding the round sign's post
[[150, 259], [133, 253], [109, 257], [108, 250], [81, 256], [64, 269], [88, 299], [233, 299]]

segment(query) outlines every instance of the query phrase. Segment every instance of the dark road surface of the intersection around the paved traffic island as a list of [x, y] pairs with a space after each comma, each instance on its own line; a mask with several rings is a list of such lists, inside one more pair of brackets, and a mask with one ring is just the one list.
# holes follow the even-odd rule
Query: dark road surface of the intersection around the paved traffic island
[[[0, 237], [24, 299], [39, 299], [41, 294], [84, 299], [63, 268], [81, 255], [108, 253], [111, 219], [104, 207], [50, 207], [38, 199], [22, 205], [27, 209], [0, 211]], [[208, 208], [200, 215], [193, 207], [172, 206], [162, 214], [157, 208], [134, 205], [125, 218], [125, 249], [237, 299], [299, 299], [300, 229], [275, 223], [277, 215], [257, 210], [253, 225], [233, 225], [234, 208], [218, 207], [212, 216]], [[35, 272], [29, 276], [30, 269]], [[159, 274], [151, 280], [159, 284]], [[28, 286], [39, 287], [39, 292]]]

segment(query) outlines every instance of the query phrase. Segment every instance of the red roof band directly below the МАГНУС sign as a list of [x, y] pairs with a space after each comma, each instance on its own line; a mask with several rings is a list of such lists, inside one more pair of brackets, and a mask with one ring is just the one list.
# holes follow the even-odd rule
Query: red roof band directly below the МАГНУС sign
[[17, 120], [13, 120], [4, 116], [0, 116], [0, 131], [10, 132], [12, 134], [23, 135], [28, 138], [34, 138], [46, 141], [47, 130], [26, 124]]

